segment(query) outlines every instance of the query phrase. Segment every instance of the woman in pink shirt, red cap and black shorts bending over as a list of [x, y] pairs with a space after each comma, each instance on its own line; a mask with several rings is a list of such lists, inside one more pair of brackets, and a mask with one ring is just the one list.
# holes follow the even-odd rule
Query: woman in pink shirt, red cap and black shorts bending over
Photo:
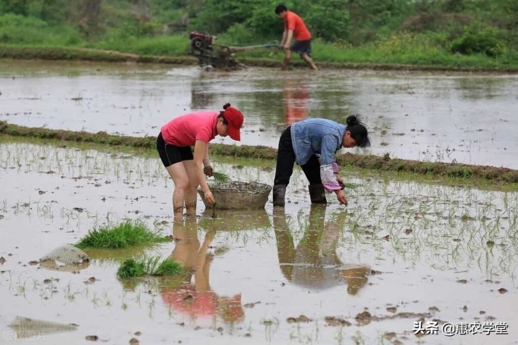
[[[156, 138], [156, 149], [167, 172], [175, 183], [172, 206], [176, 215], [196, 214], [196, 189], [202, 187], [205, 201], [215, 205], [207, 185], [202, 163], [210, 167], [209, 141], [216, 135], [241, 140], [243, 114], [227, 103], [223, 111], [198, 111], [172, 119]], [[191, 149], [194, 146], [194, 155]], [[211, 173], [208, 174], [212, 176]]]

